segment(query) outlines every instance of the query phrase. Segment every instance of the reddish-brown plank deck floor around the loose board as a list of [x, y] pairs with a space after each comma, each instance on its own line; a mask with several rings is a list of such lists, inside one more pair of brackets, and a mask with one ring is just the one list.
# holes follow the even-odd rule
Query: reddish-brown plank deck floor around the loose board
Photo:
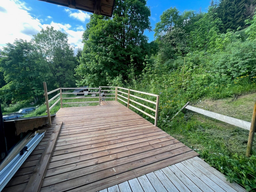
[[[24, 191], [57, 122], [63, 125], [43, 180], [43, 192], [106, 191], [169, 165], [184, 165], [185, 160], [198, 155], [118, 102], [101, 104], [60, 108], [44, 138], [3, 191]], [[190, 167], [188, 170], [193, 172]]]

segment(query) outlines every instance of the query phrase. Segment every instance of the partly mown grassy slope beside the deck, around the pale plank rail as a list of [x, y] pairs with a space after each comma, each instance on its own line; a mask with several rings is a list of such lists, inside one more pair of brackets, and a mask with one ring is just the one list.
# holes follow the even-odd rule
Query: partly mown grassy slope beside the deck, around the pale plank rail
[[[220, 100], [203, 100], [191, 105], [251, 122], [256, 93]], [[249, 131], [186, 111], [162, 129], [197, 151], [207, 163], [247, 190], [256, 189], [256, 136], [252, 157], [245, 157]]]

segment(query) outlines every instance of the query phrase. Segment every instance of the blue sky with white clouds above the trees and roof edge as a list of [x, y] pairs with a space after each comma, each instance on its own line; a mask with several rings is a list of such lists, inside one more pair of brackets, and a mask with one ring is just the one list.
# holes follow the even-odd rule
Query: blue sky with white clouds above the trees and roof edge
[[[210, 1], [210, 0], [209, 0]], [[148, 0], [151, 10], [151, 26], [155, 28], [163, 11], [176, 7], [180, 12], [185, 10], [206, 11], [209, 1], [205, 0]], [[68, 42], [74, 48], [82, 48], [82, 34], [90, 14], [67, 7], [58, 6], [38, 0], [4, 0], [0, 4], [0, 48], [6, 43], [17, 39], [30, 40], [42, 28], [53, 26], [55, 29], [68, 34]], [[154, 31], [146, 31], [149, 42], [154, 40]]]

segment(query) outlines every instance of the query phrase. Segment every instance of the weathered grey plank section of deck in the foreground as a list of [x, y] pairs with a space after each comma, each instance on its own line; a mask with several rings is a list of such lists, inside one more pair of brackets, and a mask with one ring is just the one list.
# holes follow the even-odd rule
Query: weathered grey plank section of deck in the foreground
[[100, 192], [246, 192], [199, 157], [150, 172]]

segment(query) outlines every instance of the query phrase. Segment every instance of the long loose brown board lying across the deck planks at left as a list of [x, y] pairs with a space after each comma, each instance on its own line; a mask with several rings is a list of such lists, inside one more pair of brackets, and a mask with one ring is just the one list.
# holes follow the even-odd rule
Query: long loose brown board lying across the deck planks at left
[[55, 147], [56, 141], [59, 137], [61, 126], [62, 126], [62, 122], [57, 123], [57, 125], [54, 127], [50, 140], [48, 140], [48, 143], [44, 149], [44, 152], [38, 164], [36, 165], [36, 168], [32, 173], [24, 192], [40, 191], [45, 173], [47, 171], [50, 159], [52, 157], [53, 148]]

